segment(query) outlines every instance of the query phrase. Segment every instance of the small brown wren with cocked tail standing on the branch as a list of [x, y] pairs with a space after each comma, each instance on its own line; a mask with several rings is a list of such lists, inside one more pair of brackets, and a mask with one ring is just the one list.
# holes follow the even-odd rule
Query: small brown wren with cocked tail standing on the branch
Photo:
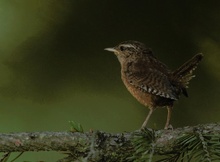
[[153, 111], [158, 107], [167, 108], [164, 129], [172, 127], [170, 119], [174, 102], [181, 94], [188, 97], [186, 89], [195, 76], [193, 71], [202, 60], [203, 54], [198, 53], [176, 70], [170, 70], [157, 59], [151, 48], [139, 41], [124, 41], [104, 50], [117, 56], [125, 87], [134, 98], [150, 109], [141, 128], [146, 127]]

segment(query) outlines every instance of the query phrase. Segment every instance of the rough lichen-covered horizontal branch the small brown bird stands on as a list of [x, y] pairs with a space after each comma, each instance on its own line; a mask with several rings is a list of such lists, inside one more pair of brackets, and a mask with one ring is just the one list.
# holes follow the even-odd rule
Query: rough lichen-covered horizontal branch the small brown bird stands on
[[[68, 151], [68, 158], [100, 161], [119, 161], [140, 156], [148, 150], [150, 155], [179, 153], [185, 143], [181, 139], [207, 136], [220, 138], [220, 123], [177, 128], [174, 130], [137, 130], [128, 133], [95, 132], [34, 132], [0, 134], [0, 152]], [[190, 135], [190, 136], [189, 136]], [[191, 141], [193, 141], [191, 139]], [[207, 141], [206, 141], [207, 142]], [[143, 151], [137, 147], [143, 146]], [[185, 145], [184, 145], [185, 146]], [[187, 145], [188, 146], [188, 145]], [[203, 145], [202, 145], [203, 146]], [[204, 145], [205, 147], [205, 145]], [[137, 158], [137, 157], [135, 157]]]

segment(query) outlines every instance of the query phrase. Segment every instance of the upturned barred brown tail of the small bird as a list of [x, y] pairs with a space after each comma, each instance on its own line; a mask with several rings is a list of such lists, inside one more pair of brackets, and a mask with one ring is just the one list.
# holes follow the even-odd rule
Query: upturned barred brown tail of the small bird
[[182, 93], [185, 96], [188, 96], [186, 88], [188, 88], [189, 81], [195, 76], [193, 75], [193, 71], [197, 68], [202, 58], [203, 55], [201, 53], [196, 54], [193, 58], [173, 72], [173, 79], [181, 85]]

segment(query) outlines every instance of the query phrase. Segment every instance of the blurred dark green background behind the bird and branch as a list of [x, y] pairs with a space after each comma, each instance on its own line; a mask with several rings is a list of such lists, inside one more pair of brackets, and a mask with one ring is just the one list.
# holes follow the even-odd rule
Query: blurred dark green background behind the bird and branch
[[[125, 40], [144, 42], [171, 69], [202, 52], [171, 123], [219, 121], [220, 1], [1, 0], [1, 132], [66, 131], [70, 120], [85, 131], [140, 128], [148, 109], [103, 50]], [[163, 128], [166, 113], [157, 109], [148, 126]], [[23, 158], [51, 161], [40, 155]]]

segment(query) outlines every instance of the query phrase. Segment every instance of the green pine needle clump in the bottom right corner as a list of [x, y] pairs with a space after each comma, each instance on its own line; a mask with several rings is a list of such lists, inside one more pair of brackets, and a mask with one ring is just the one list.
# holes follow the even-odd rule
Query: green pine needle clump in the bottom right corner
[[194, 133], [183, 134], [175, 142], [176, 152], [169, 158], [161, 161], [219, 161], [220, 144], [219, 134], [207, 134], [201, 130], [195, 130]]

